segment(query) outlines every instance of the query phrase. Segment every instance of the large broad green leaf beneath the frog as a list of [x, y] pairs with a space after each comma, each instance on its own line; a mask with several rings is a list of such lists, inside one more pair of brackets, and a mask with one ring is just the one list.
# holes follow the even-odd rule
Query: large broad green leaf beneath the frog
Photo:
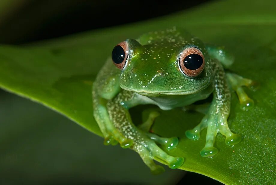
[[[269, 6], [268, 6], [269, 5]], [[93, 119], [91, 85], [115, 44], [148, 31], [172, 26], [188, 29], [203, 41], [227, 47], [235, 55], [233, 72], [259, 83], [256, 91], [245, 89], [254, 108], [242, 111], [232, 93], [230, 129], [242, 135], [234, 147], [218, 135], [219, 153], [203, 158], [198, 141], [184, 136], [202, 114], [180, 109], [161, 111], [153, 126], [162, 136], [179, 136], [179, 146], [169, 153], [183, 156], [181, 169], [212, 177], [226, 184], [273, 184], [276, 180], [276, 12], [275, 2], [221, 1], [167, 17], [132, 25], [102, 29], [30, 44], [0, 47], [0, 86], [40, 102], [64, 114], [84, 128], [101, 135]], [[145, 119], [147, 107], [131, 110], [134, 123]], [[133, 114], [136, 112], [135, 114]], [[142, 162], [142, 160], [141, 160]]]

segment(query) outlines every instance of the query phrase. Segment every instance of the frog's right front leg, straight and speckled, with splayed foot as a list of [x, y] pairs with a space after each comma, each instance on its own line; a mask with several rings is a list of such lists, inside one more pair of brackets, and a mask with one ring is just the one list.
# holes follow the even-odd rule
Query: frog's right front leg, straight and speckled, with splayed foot
[[[207, 114], [194, 129], [186, 132], [190, 139], [199, 138], [199, 132], [207, 126], [205, 147], [200, 151], [204, 157], [214, 156], [218, 150], [214, 147], [217, 133], [226, 137], [226, 145], [234, 145], [241, 141], [241, 136], [230, 131], [227, 119], [230, 113], [231, 94], [226, 83], [226, 75], [220, 63], [214, 64], [214, 92], [213, 100]], [[195, 137], [192, 137], [195, 136]]]

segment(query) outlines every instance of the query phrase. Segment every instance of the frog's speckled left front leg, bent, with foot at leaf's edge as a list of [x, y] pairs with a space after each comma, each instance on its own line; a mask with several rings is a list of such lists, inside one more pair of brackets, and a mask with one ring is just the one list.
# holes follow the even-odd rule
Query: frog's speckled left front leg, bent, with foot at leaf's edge
[[107, 102], [109, 118], [115, 128], [125, 138], [133, 141], [131, 148], [139, 153], [153, 173], [163, 171], [163, 167], [156, 165], [153, 162], [153, 158], [166, 161], [170, 168], [179, 168], [183, 164], [184, 159], [168, 155], [155, 143], [156, 141], [159, 144], [166, 145], [169, 142], [173, 146], [176, 146], [177, 143], [175, 143], [174, 139], [166, 141], [166, 138], [145, 132], [132, 123], [128, 108], [137, 105], [137, 102], [146, 104], [143, 100], [139, 100], [139, 96], [136, 93], [125, 90], [122, 90], [114, 99]]

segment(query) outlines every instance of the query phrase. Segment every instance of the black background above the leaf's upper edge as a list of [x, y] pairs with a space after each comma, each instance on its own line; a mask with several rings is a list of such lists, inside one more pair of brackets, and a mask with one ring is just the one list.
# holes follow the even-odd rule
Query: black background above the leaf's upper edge
[[[22, 0], [21, 0], [22, 1]], [[188, 10], [210, 0], [25, 0], [2, 21], [0, 43], [23, 44]]]

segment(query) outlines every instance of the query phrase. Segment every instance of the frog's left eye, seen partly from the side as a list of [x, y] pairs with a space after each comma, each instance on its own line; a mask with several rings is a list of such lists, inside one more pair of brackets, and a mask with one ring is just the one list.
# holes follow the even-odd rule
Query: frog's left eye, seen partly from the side
[[124, 69], [128, 62], [128, 43], [126, 41], [119, 43], [112, 51], [113, 63], [119, 69]]

